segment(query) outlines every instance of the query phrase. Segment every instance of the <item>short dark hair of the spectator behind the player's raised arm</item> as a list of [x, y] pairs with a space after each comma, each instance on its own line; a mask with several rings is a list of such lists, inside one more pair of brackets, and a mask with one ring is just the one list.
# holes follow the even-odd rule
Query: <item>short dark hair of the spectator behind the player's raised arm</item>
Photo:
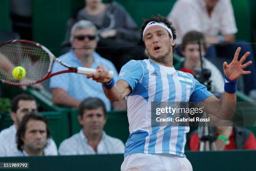
[[190, 31], [187, 32], [183, 39], [182, 39], [182, 45], [181, 45], [181, 50], [184, 51], [187, 44], [191, 44], [191, 43], [200, 43], [203, 45], [203, 47], [206, 50], [206, 41], [205, 41], [205, 37], [201, 32], [197, 32], [197, 31]]

